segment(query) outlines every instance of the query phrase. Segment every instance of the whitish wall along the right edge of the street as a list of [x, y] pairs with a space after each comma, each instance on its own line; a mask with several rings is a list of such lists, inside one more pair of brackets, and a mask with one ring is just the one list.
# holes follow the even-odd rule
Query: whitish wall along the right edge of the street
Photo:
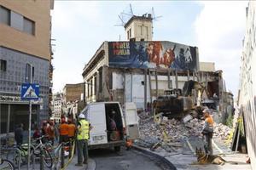
[[256, 2], [246, 8], [247, 23], [243, 40], [238, 105], [244, 117], [247, 152], [252, 169], [256, 169]]

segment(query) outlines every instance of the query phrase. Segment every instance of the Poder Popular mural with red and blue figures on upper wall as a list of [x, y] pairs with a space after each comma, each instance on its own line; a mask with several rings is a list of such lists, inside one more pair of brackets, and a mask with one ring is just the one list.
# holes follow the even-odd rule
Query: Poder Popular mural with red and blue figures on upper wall
[[108, 42], [109, 66], [197, 70], [195, 47], [174, 42]]

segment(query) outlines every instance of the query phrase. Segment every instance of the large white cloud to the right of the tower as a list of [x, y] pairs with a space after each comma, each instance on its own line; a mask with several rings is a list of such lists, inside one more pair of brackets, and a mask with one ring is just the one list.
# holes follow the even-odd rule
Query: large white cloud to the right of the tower
[[215, 62], [224, 71], [226, 88], [237, 94], [247, 2], [201, 2], [195, 20], [196, 43], [201, 61]]

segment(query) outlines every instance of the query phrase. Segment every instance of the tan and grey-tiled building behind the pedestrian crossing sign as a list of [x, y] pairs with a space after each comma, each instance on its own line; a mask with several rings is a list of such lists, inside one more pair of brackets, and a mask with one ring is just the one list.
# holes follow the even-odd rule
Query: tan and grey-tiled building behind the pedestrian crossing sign
[[32, 121], [49, 117], [53, 6], [52, 0], [0, 2], [1, 133], [12, 132], [20, 122], [28, 128], [29, 105], [21, 101], [20, 87], [31, 78], [29, 68], [32, 82], [40, 86], [39, 101], [32, 105]]

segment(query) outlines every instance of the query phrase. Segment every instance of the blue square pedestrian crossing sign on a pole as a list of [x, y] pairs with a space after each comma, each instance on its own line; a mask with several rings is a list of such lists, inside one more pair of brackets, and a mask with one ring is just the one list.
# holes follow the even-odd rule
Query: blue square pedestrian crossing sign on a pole
[[39, 84], [23, 83], [21, 85], [21, 100], [38, 100]]

